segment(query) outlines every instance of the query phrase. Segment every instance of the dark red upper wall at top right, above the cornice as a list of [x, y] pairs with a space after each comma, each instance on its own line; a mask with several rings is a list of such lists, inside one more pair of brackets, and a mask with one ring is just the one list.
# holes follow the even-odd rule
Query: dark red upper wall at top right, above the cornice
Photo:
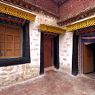
[[60, 7], [60, 19], [65, 20], [95, 8], [95, 0], [68, 0]]

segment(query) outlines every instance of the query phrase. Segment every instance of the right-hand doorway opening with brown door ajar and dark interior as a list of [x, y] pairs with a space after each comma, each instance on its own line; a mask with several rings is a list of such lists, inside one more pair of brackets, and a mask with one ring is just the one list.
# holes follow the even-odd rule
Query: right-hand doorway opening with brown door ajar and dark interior
[[83, 73], [95, 72], [95, 43], [83, 44]]

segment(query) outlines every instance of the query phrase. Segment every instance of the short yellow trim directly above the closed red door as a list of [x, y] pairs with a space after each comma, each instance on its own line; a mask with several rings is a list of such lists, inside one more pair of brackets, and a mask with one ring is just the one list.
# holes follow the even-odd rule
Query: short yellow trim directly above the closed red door
[[45, 24], [41, 24], [39, 29], [42, 32], [51, 32], [51, 33], [57, 33], [57, 34], [62, 34], [62, 33], [65, 33], [65, 31], [66, 31], [65, 29], [51, 26], [51, 25], [45, 25]]

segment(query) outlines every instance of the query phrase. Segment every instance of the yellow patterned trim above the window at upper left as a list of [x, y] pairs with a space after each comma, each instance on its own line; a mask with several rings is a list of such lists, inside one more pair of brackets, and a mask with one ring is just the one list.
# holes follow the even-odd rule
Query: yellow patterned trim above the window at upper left
[[5, 13], [5, 14], [9, 14], [12, 16], [16, 16], [19, 18], [23, 18], [26, 20], [30, 20], [30, 21], [35, 21], [35, 15], [29, 12], [25, 12], [23, 10], [14, 8], [12, 6], [6, 5], [4, 3], [0, 2], [0, 12], [1, 13]]

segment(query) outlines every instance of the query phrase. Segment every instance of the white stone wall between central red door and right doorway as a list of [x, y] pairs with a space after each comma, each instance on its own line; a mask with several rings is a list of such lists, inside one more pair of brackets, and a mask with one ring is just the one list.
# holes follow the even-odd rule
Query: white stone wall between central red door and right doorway
[[71, 74], [73, 32], [66, 32], [59, 38], [60, 68]]

